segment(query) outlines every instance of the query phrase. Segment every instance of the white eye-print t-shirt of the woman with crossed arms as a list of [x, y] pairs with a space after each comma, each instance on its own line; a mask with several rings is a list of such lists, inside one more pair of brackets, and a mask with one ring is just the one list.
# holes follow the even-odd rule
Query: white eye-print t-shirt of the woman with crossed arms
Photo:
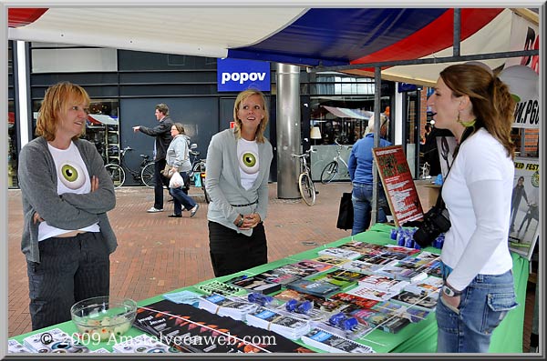
[[[82, 195], [91, 191], [91, 181], [89, 180], [88, 168], [77, 150], [74, 142], [70, 142], [67, 149], [57, 149], [47, 144], [49, 153], [53, 155], [55, 168], [57, 169], [57, 194], [76, 193]], [[53, 236], [74, 231], [75, 229], [61, 229], [49, 226], [47, 222], [41, 222], [38, 226], [38, 241]], [[98, 223], [95, 225], [81, 228], [82, 231], [99, 232]]]

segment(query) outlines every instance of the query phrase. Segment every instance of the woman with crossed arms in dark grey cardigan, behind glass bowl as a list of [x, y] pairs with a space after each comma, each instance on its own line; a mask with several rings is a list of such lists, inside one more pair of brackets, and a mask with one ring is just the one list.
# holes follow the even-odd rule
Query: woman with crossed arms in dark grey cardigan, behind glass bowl
[[110, 253], [118, 246], [107, 212], [112, 179], [86, 130], [89, 95], [79, 85], [49, 87], [36, 139], [19, 155], [29, 310], [36, 330], [70, 320], [70, 307], [108, 296]]

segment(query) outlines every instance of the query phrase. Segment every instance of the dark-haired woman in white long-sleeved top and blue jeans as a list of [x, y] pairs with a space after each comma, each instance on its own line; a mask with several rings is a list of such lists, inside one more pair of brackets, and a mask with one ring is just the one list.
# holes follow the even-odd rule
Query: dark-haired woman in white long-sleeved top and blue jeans
[[515, 300], [508, 236], [514, 100], [477, 65], [450, 65], [428, 99], [435, 126], [459, 142], [442, 197], [451, 227], [442, 248], [438, 352], [488, 352]]

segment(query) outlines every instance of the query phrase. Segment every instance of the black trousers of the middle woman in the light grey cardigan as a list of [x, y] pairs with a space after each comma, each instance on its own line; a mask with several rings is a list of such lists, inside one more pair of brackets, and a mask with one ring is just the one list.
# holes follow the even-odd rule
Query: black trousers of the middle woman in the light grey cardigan
[[268, 263], [268, 246], [263, 223], [252, 236], [209, 221], [209, 251], [214, 276], [226, 276]]

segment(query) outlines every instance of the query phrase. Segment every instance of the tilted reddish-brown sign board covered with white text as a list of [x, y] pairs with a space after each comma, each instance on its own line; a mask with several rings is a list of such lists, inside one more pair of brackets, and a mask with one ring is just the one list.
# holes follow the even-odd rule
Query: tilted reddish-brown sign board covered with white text
[[401, 226], [410, 221], [422, 220], [424, 212], [403, 146], [373, 148], [372, 155], [377, 164], [378, 174], [382, 180], [395, 225]]

